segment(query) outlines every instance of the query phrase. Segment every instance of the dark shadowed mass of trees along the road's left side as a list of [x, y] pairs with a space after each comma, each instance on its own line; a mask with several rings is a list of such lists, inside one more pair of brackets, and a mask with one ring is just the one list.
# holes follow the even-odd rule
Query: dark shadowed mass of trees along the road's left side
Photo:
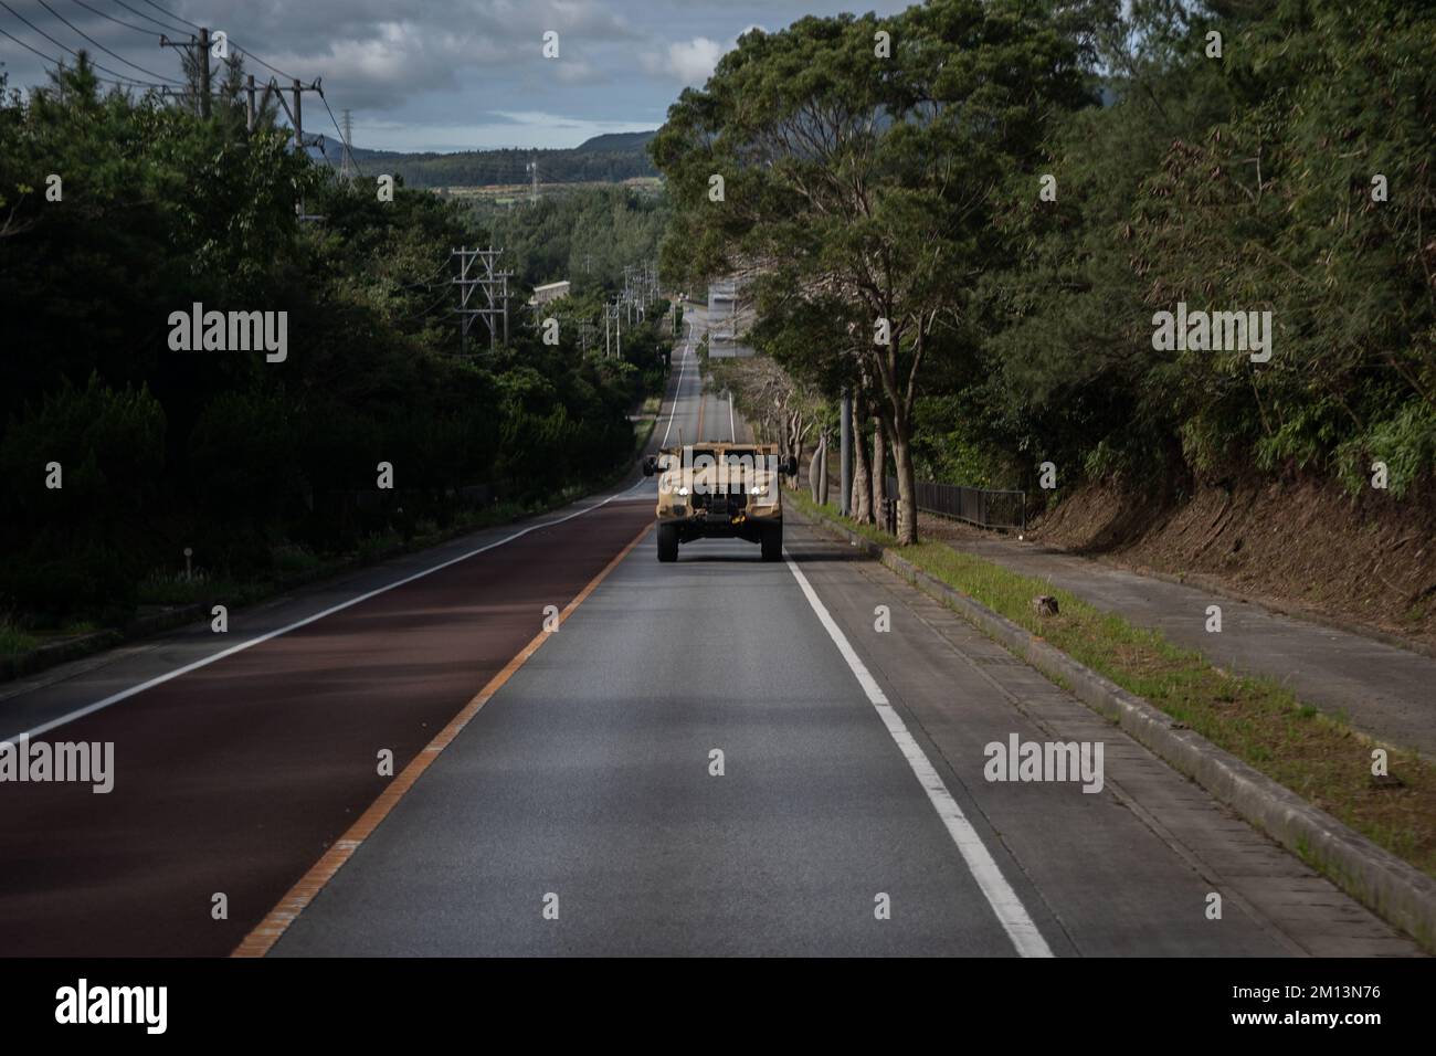
[[[651, 323], [623, 359], [580, 355], [602, 284], [540, 341], [523, 300], [554, 267], [526, 231], [546, 210], [510, 220], [510, 343], [490, 353], [475, 322], [461, 356], [451, 249], [494, 238], [472, 211], [381, 200], [240, 109], [105, 93], [83, 59], [52, 80], [0, 105], [0, 616], [123, 621], [184, 593], [187, 549], [197, 578], [254, 582], [477, 500], [592, 490], [632, 455], [668, 343]], [[620, 200], [584, 217], [595, 246], [656, 251], [656, 227], [599, 230]], [[286, 353], [177, 351], [194, 305], [287, 313]]]

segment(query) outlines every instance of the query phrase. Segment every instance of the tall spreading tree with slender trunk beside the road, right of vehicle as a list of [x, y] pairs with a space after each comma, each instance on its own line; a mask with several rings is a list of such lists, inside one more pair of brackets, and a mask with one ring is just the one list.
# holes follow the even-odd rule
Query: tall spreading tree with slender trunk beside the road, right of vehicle
[[974, 353], [965, 306], [998, 249], [994, 188], [1037, 158], [1054, 114], [1091, 102], [1080, 57], [1048, 6], [1017, 0], [807, 17], [744, 34], [653, 139], [678, 207], [666, 270], [742, 274], [760, 315], [837, 300], [859, 323], [857, 342], [803, 358], [843, 358], [849, 386], [872, 386], [900, 543], [916, 540], [925, 361]]

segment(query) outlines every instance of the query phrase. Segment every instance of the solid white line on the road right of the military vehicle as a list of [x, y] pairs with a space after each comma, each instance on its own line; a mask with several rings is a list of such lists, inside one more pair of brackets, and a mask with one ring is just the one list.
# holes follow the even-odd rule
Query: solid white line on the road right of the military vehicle
[[843, 629], [833, 621], [831, 613], [827, 606], [823, 605], [813, 585], [808, 583], [807, 576], [803, 570], [793, 562], [791, 557], [784, 556], [788, 569], [793, 572], [794, 579], [798, 580], [798, 586], [803, 588], [804, 596], [808, 599], [808, 605], [813, 606], [813, 612], [817, 613], [819, 621], [823, 624], [823, 629], [827, 631], [829, 638], [837, 645], [837, 651], [843, 654], [843, 659], [847, 661], [847, 667], [852, 670], [853, 675], [857, 678], [859, 685], [863, 687], [863, 693], [867, 694], [867, 700], [877, 710], [879, 717], [883, 720], [883, 726], [887, 727], [887, 733], [898, 743], [902, 750], [903, 757], [908, 760], [908, 766], [918, 776], [918, 783], [922, 784], [923, 790], [928, 793], [928, 799], [932, 802], [933, 809], [936, 809], [938, 816], [942, 823], [948, 826], [948, 835], [952, 836], [952, 842], [958, 845], [958, 852], [962, 855], [962, 861], [968, 863], [968, 869], [972, 878], [978, 882], [982, 894], [987, 897], [988, 905], [992, 907], [992, 912], [997, 914], [998, 921], [1007, 931], [1007, 937], [1012, 940], [1012, 945], [1017, 947], [1017, 953], [1022, 957], [1051, 957], [1053, 951], [1047, 945], [1047, 940], [1043, 938], [1043, 932], [1037, 930], [1037, 924], [1028, 917], [1027, 908], [1022, 905], [1022, 899], [1017, 897], [1012, 886], [1002, 876], [1002, 871], [997, 868], [997, 862], [992, 861], [992, 855], [988, 852], [987, 845], [982, 838], [978, 836], [972, 823], [968, 822], [966, 816], [962, 813], [962, 807], [948, 792], [948, 786], [942, 783], [942, 777], [933, 769], [928, 756], [923, 754], [922, 747], [913, 740], [913, 736], [908, 731], [902, 718], [893, 710], [893, 705], [887, 703], [887, 697], [883, 694], [882, 687], [877, 685], [877, 680], [867, 671], [867, 667], [859, 659], [857, 652], [853, 651], [852, 644], [847, 641], [847, 635]]

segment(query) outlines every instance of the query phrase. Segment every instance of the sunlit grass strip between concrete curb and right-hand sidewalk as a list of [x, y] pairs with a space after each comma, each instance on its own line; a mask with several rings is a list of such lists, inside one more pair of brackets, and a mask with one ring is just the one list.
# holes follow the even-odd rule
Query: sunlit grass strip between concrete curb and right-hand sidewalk
[[[808, 513], [819, 510], [801, 491], [790, 491], [787, 500]], [[823, 511], [839, 519], [831, 506]], [[896, 549], [887, 533], [846, 523]], [[1344, 714], [1320, 711], [1274, 678], [1234, 675], [1202, 654], [1173, 645], [1159, 631], [945, 543], [918, 543], [900, 553], [1436, 876], [1436, 772], [1417, 753], [1387, 747], [1389, 773], [1402, 787], [1377, 789], [1371, 784], [1376, 743], [1354, 730]], [[1031, 601], [1040, 593], [1057, 598], [1057, 616], [1032, 611]]]

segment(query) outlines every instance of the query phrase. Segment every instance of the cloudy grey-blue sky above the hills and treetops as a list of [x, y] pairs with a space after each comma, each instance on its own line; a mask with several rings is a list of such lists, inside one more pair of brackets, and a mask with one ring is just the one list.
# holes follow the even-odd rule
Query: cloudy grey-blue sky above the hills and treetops
[[[750, 26], [804, 14], [880, 14], [910, 0], [3, 0], [0, 30], [47, 56], [88, 47], [111, 70], [177, 78], [158, 23], [225, 30], [240, 47], [306, 82], [323, 78], [337, 115], [353, 111], [356, 147], [458, 151], [576, 147], [600, 132], [656, 128], [685, 85], [702, 85]], [[47, 10], [46, 4], [49, 6]], [[158, 4], [158, 6], [157, 6]], [[102, 14], [103, 13], [103, 14]], [[118, 19], [128, 26], [106, 19]], [[29, 19], [34, 29], [26, 26]], [[73, 24], [66, 26], [63, 20]], [[148, 32], [139, 32], [144, 27]], [[169, 36], [178, 36], [169, 30]], [[543, 34], [559, 33], [559, 57]], [[53, 40], [47, 40], [43, 34]], [[63, 46], [63, 47], [62, 47]], [[69, 57], [69, 56], [66, 56]], [[10, 86], [43, 83], [46, 63], [0, 36]], [[248, 70], [270, 70], [248, 63]], [[323, 124], [316, 124], [323, 122]], [[333, 134], [306, 96], [306, 131]]]

